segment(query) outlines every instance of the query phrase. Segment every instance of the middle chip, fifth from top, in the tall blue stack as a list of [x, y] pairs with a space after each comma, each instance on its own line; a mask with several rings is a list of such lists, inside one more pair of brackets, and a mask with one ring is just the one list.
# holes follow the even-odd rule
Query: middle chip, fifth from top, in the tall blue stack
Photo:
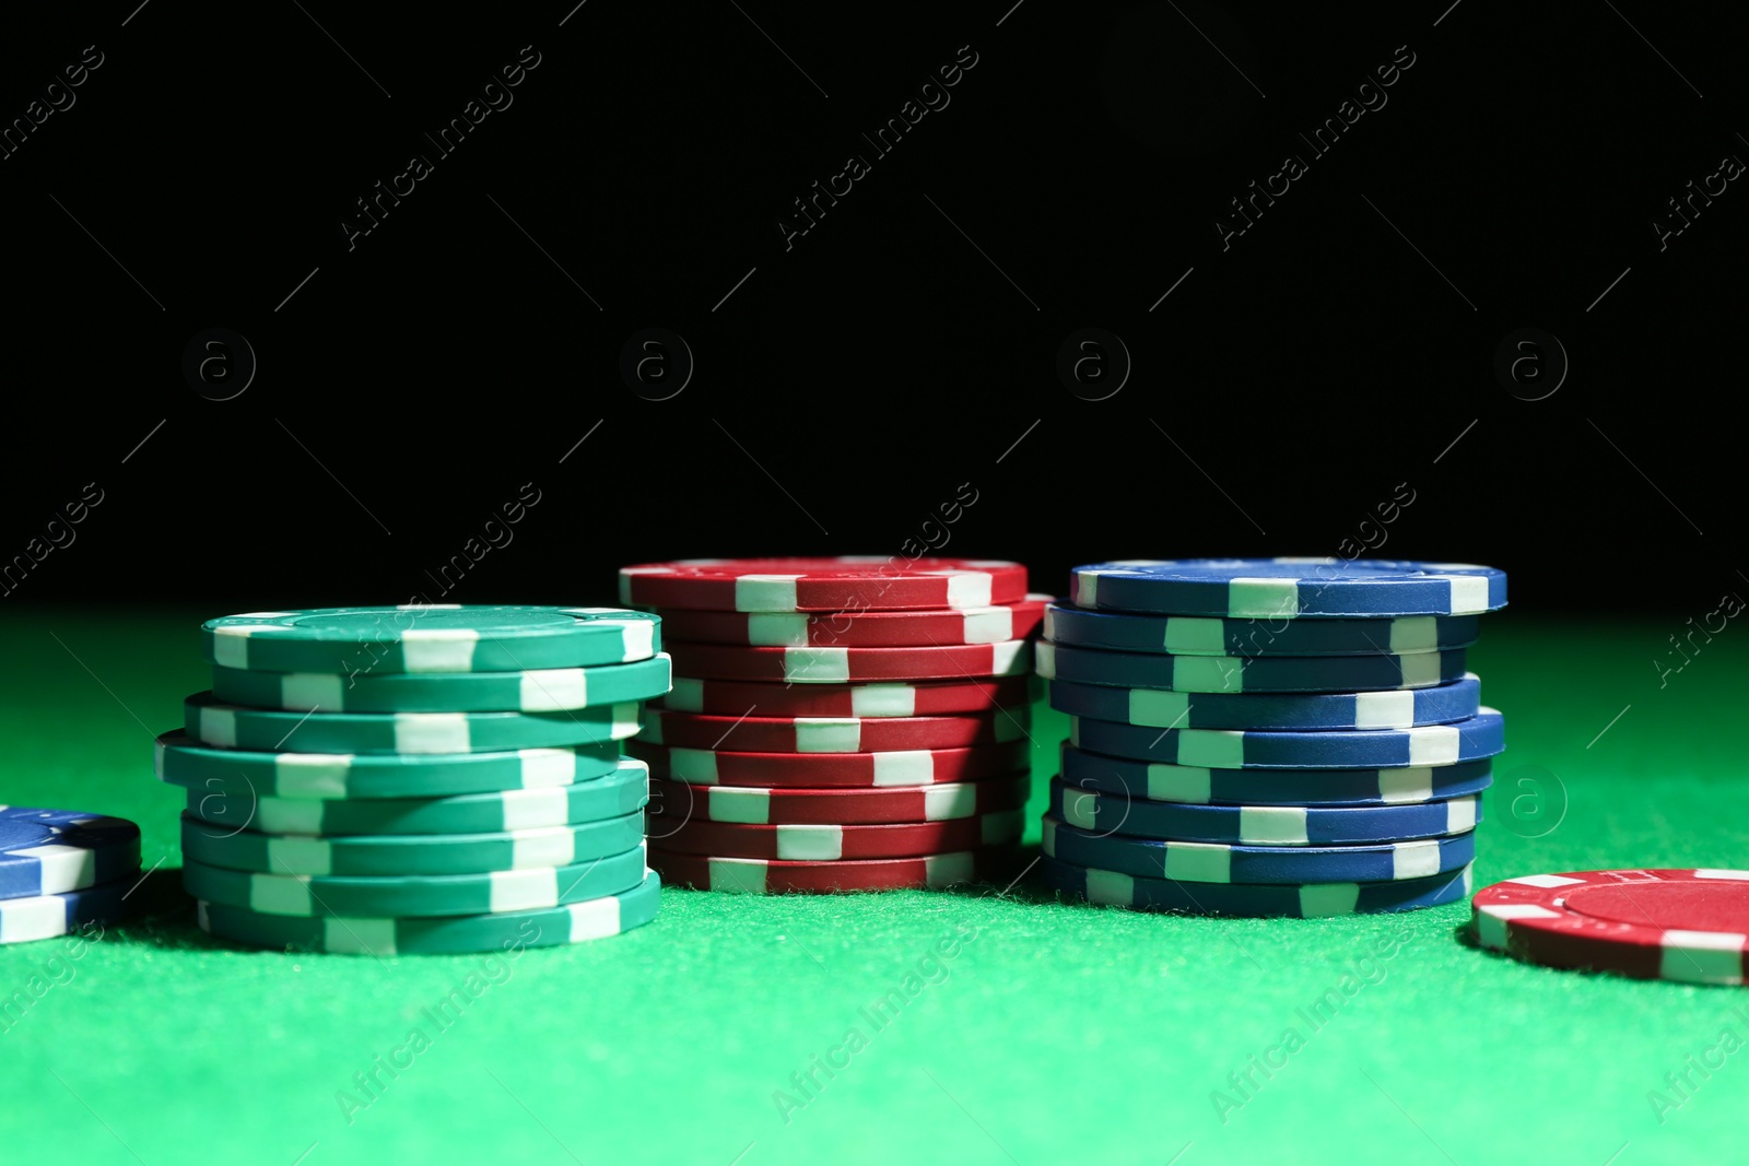
[[1506, 752], [1506, 717], [1483, 708], [1452, 725], [1415, 729], [1327, 729], [1320, 732], [1244, 732], [1237, 729], [1153, 729], [1088, 717], [1069, 718], [1069, 743], [1107, 757], [1160, 760], [1209, 769], [1385, 769], [1455, 766]]

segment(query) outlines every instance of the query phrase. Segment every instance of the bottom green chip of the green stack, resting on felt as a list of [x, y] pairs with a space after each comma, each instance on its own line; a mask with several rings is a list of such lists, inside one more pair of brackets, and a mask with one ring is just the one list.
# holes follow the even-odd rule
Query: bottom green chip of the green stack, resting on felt
[[661, 879], [656, 872], [631, 890], [567, 907], [470, 914], [441, 920], [322, 918], [299, 920], [247, 907], [201, 902], [199, 925], [208, 935], [282, 951], [346, 954], [462, 954], [558, 947], [621, 935], [656, 918]]

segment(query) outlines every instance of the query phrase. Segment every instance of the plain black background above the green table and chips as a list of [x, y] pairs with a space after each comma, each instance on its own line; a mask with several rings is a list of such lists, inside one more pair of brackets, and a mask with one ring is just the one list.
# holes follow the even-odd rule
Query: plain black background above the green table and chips
[[[1516, 608], [1749, 589], [1749, 194], [1653, 229], [1749, 159], [1725, 5], [572, 2], [9, 26], [5, 122], [103, 54], [0, 161], [0, 558], [103, 491], [10, 603], [610, 601], [637, 561], [897, 554], [964, 482], [944, 552], [1041, 591], [1352, 552], [1399, 482], [1382, 554], [1502, 566]], [[436, 157], [523, 45], [514, 103]], [[950, 105], [876, 157], [861, 135], [962, 45]], [[1406, 54], [1310, 157], [1296, 133]], [[348, 248], [415, 152], [430, 177]], [[871, 173], [785, 248], [848, 154]], [[1223, 250], [1286, 154], [1308, 173]], [[182, 374], [210, 327], [259, 360], [233, 400]], [[668, 400], [619, 374], [645, 327], [696, 358]], [[1107, 400], [1056, 374], [1084, 327], [1133, 358]], [[1522, 327], [1571, 358], [1543, 400], [1494, 374]], [[439, 589], [525, 482], [514, 540]]]

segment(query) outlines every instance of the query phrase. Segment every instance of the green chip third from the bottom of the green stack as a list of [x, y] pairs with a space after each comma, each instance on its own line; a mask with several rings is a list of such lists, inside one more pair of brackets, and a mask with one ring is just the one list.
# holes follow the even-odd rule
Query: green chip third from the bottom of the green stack
[[254, 874], [470, 874], [574, 867], [644, 841], [644, 815], [498, 834], [257, 834], [182, 816], [182, 857]]

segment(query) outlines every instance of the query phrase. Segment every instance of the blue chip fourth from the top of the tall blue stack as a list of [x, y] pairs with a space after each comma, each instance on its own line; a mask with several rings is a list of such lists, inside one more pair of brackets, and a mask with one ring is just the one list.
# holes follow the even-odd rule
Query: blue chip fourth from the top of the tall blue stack
[[1410, 729], [1474, 717], [1481, 682], [1387, 692], [1170, 692], [1049, 682], [1051, 708], [1153, 729]]

